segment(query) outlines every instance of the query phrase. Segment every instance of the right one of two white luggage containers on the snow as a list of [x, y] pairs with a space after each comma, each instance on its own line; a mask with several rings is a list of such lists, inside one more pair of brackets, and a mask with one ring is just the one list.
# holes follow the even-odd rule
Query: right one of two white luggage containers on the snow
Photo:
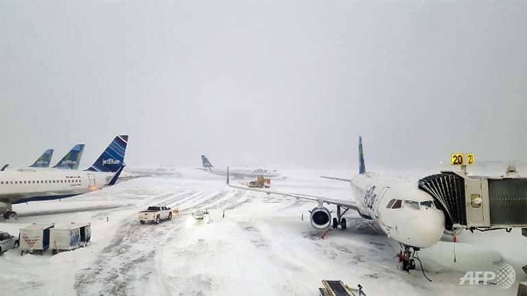
[[90, 223], [55, 225], [51, 229], [51, 249], [53, 254], [58, 254], [61, 251], [71, 251], [87, 245], [90, 238]]

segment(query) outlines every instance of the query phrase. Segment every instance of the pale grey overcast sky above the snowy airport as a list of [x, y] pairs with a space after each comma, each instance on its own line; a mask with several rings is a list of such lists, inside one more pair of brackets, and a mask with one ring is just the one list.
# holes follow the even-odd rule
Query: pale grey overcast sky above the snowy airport
[[0, 1], [0, 162], [527, 160], [527, 1]]

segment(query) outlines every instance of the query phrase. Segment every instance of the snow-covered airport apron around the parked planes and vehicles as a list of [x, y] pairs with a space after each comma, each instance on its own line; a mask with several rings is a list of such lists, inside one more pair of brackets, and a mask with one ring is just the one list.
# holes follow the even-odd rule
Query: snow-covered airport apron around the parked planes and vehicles
[[[351, 171], [286, 173], [273, 180], [274, 189], [351, 198], [347, 184], [318, 178]], [[139, 224], [137, 212], [152, 204], [179, 207], [181, 215]], [[0, 221], [1, 231], [18, 235], [30, 223], [90, 222], [92, 241], [56, 256], [8, 251], [0, 258], [0, 295], [318, 295], [324, 279], [362, 284], [370, 296], [516, 295], [517, 284], [507, 290], [459, 285], [465, 271], [492, 271], [494, 262], [512, 264], [517, 282], [526, 279], [527, 238], [518, 231], [462, 234], [456, 263], [452, 243], [421, 251], [428, 282], [420, 270], [401, 271], [397, 243], [354, 212], [347, 214], [347, 231], [330, 230], [320, 239], [324, 232], [309, 224], [314, 206], [234, 190], [222, 177], [194, 170], [16, 205], [20, 218]], [[209, 223], [191, 218], [204, 208], [211, 211]]]

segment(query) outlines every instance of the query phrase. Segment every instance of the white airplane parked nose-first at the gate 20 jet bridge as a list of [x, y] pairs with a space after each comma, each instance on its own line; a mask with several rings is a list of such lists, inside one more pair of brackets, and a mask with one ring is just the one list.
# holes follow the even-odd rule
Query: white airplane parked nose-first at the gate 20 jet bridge
[[[402, 249], [399, 258], [403, 263], [403, 270], [415, 269], [415, 262], [412, 258], [417, 258], [415, 257], [416, 252], [421, 248], [435, 245], [441, 239], [445, 230], [445, 214], [436, 206], [431, 195], [418, 188], [417, 182], [380, 177], [366, 172], [361, 137], [359, 137], [359, 162], [359, 175], [352, 179], [326, 177], [349, 182], [354, 199], [330, 199], [301, 193], [281, 193], [233, 186], [229, 184], [229, 173], [227, 174], [227, 185], [237, 189], [316, 201], [318, 205], [310, 211], [310, 219], [311, 225], [318, 230], [325, 230], [331, 225], [333, 228], [340, 225], [340, 228], [345, 230], [347, 224], [342, 215], [350, 209], [356, 210], [364, 219], [373, 220], [388, 238], [400, 243]], [[331, 211], [324, 204], [333, 204], [337, 207], [336, 217], [332, 221]]]

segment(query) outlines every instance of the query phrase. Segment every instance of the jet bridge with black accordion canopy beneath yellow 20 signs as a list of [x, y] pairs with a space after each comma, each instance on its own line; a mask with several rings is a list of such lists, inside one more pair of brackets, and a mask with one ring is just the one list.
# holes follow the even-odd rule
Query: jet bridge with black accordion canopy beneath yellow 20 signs
[[447, 230], [527, 227], [527, 177], [513, 167], [502, 177], [443, 171], [419, 180], [419, 188], [445, 212]]

